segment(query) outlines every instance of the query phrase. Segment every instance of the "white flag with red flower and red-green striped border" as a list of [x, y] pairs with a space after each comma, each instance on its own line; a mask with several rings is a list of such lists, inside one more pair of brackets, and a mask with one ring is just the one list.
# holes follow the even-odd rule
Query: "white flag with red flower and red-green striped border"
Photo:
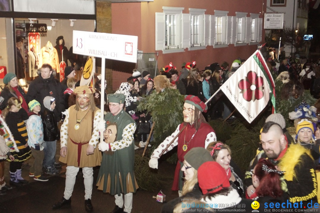
[[275, 110], [274, 88], [274, 80], [260, 50], [248, 58], [220, 87], [249, 123], [266, 107], [270, 98]]

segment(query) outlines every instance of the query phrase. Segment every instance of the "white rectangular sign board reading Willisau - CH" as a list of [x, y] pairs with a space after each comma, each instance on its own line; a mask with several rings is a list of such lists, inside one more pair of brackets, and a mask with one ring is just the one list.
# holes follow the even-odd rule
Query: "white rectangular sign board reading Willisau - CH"
[[73, 31], [73, 53], [137, 63], [138, 36]]

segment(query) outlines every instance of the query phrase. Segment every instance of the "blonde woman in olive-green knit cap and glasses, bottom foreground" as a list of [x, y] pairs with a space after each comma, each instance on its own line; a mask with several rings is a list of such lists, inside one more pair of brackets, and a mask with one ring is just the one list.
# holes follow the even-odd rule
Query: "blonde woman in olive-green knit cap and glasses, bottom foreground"
[[182, 188], [182, 196], [177, 197], [161, 208], [161, 213], [171, 213], [174, 207], [185, 198], [199, 199], [202, 192], [198, 184], [198, 169], [201, 164], [207, 161], [213, 161], [208, 150], [203, 147], [195, 147], [184, 156], [181, 171], [184, 173], [185, 183]]

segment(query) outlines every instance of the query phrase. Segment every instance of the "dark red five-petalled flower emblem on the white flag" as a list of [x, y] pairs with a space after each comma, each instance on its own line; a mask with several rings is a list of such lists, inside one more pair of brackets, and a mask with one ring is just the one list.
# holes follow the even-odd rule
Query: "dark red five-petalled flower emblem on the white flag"
[[263, 97], [263, 78], [258, 76], [256, 72], [249, 71], [247, 77], [238, 83], [244, 100], [255, 101]]

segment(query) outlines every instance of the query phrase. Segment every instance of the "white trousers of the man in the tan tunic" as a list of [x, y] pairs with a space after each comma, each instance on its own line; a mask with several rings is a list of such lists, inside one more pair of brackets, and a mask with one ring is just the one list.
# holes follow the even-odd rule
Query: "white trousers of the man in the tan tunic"
[[[66, 186], [64, 188], [64, 198], [69, 200], [73, 192], [73, 187], [76, 183], [76, 175], [79, 171], [79, 167], [67, 166], [66, 171]], [[93, 184], [93, 168], [83, 167], [82, 168], [83, 178], [84, 178], [84, 199], [91, 199], [92, 194], [92, 184]]]

